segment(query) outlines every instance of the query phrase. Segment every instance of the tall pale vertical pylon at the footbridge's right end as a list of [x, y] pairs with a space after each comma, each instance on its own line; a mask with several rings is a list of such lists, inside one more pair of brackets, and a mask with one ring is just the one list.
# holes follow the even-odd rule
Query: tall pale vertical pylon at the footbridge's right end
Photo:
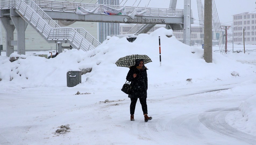
[[191, 0], [184, 0], [183, 43], [191, 45]]

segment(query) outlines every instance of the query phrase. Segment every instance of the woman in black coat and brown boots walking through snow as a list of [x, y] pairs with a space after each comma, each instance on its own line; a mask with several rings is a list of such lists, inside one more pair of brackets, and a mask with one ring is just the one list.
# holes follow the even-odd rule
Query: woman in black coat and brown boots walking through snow
[[126, 80], [131, 81], [132, 86], [131, 94], [128, 95], [128, 97], [131, 99], [131, 121], [134, 121], [134, 111], [138, 98], [140, 99], [145, 122], [152, 119], [152, 117], [148, 117], [147, 108], [148, 69], [144, 66], [143, 61], [143, 59], [136, 59], [135, 65], [130, 67], [130, 70], [126, 76]]

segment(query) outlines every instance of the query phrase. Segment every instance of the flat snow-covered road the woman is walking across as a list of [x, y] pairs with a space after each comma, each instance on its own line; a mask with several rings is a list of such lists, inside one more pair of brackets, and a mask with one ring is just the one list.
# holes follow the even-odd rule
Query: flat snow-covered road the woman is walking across
[[[225, 121], [246, 98], [237, 87], [152, 88], [149, 122], [139, 101], [129, 120], [130, 100], [120, 90], [10, 89], [0, 94], [0, 144], [256, 144], [255, 136]], [[91, 94], [74, 95], [77, 90]], [[70, 132], [56, 134], [65, 124]]]

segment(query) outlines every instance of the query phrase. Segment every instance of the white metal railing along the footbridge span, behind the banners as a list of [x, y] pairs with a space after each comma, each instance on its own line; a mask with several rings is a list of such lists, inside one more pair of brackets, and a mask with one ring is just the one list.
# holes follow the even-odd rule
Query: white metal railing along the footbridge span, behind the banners
[[[48, 11], [61, 11], [61, 12], [76, 12], [76, 5], [81, 6], [84, 9], [92, 10], [98, 7], [100, 4], [90, 4], [90, 3], [76, 3], [76, 2], [66, 2], [66, 1], [48, 1], [48, 0], [34, 0], [34, 2], [43, 10]], [[113, 9], [120, 9], [122, 6], [117, 5], [106, 5]], [[103, 13], [103, 5], [100, 5], [101, 13]], [[133, 12], [135, 8], [145, 8], [145, 7], [129, 7], [126, 6], [126, 14]], [[163, 16], [163, 17], [183, 17], [183, 9], [161, 9], [161, 8], [148, 8], [150, 11], [149, 16]], [[193, 17], [191, 11], [191, 17]]]

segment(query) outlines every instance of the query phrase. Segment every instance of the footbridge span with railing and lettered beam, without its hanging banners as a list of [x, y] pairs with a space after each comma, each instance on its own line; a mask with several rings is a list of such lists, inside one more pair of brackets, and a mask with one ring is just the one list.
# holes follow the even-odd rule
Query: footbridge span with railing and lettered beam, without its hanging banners
[[[118, 10], [123, 6], [100, 5], [89, 3], [75, 3], [64, 1], [34, 0], [34, 2], [44, 10], [54, 20], [68, 21], [91, 21], [91, 22], [109, 22], [109, 23], [133, 23], [133, 24], [183, 24], [183, 9], [162, 9], [145, 7], [125, 7], [126, 14], [107, 15], [104, 13], [104, 7], [110, 7]], [[92, 11], [99, 8], [97, 14], [76, 14], [77, 6]], [[131, 18], [129, 15], [138, 9], [148, 9], [147, 14], [135, 15]], [[193, 14], [191, 11], [191, 23], [193, 23]]]

